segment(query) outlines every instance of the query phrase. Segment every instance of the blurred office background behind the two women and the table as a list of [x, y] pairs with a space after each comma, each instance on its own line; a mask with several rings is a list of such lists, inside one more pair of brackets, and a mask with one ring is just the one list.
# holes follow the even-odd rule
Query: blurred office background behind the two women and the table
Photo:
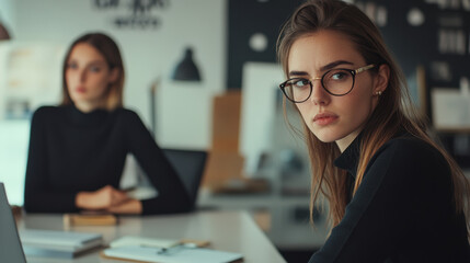
[[[326, 235], [324, 213], [312, 229], [308, 155], [293, 108], [294, 129], [284, 119], [275, 57], [301, 2], [0, 0], [0, 181], [10, 203], [23, 203], [30, 117], [60, 100], [66, 48], [103, 32], [124, 58], [125, 106], [157, 142], [210, 153], [199, 208], [247, 209], [288, 261], [307, 260]], [[470, 1], [349, 2], [379, 26], [429, 132], [470, 169]], [[183, 60], [198, 79], [175, 78]]]

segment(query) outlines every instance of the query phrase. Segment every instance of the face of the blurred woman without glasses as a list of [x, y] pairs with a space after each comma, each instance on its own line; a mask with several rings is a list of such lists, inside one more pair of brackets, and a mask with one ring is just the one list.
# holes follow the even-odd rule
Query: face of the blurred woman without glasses
[[77, 44], [67, 61], [67, 89], [74, 105], [89, 112], [104, 103], [110, 83], [117, 78], [104, 56], [87, 43]]

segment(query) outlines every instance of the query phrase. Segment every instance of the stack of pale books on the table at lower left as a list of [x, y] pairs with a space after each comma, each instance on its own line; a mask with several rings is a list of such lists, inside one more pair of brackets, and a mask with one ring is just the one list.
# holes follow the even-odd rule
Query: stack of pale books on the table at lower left
[[101, 233], [26, 229], [20, 231], [26, 255], [73, 259], [102, 247]]

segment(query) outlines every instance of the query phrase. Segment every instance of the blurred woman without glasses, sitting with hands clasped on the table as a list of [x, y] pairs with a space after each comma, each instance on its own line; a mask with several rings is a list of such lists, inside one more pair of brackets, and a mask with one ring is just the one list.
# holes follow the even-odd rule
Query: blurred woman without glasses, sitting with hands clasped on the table
[[[100, 33], [76, 39], [62, 80], [61, 105], [41, 107], [32, 119], [26, 211], [188, 210], [180, 178], [138, 115], [123, 107], [124, 66], [116, 43]], [[127, 153], [146, 171], [157, 197], [139, 201], [118, 190]]]

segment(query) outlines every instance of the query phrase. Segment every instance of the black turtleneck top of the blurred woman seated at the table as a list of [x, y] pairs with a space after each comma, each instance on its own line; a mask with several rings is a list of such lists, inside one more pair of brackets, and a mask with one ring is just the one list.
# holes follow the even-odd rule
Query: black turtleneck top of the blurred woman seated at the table
[[135, 112], [82, 113], [74, 106], [44, 106], [31, 123], [25, 210], [78, 211], [79, 192], [119, 187], [127, 153], [136, 157], [159, 193], [141, 201], [142, 214], [191, 209], [183, 183]]

